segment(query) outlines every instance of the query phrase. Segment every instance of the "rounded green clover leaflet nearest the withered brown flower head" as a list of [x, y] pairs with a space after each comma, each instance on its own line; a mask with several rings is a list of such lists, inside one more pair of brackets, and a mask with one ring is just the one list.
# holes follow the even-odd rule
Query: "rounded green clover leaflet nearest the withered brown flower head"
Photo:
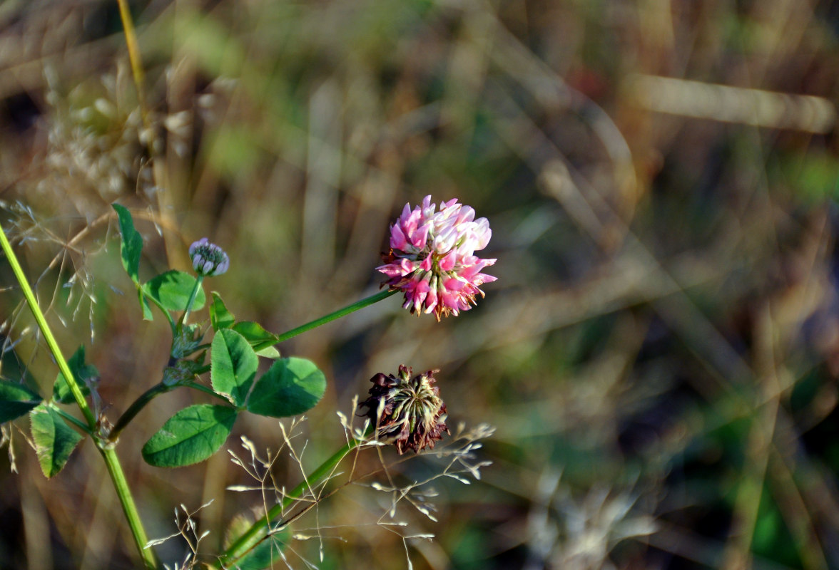
[[326, 376], [310, 360], [277, 360], [253, 386], [248, 411], [261, 416], [296, 416], [315, 407], [326, 391]]

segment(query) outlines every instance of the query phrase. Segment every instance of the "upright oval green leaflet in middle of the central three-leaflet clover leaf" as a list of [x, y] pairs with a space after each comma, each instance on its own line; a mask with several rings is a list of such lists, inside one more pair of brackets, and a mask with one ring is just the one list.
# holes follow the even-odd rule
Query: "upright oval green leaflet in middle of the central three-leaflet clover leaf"
[[248, 340], [231, 329], [221, 329], [212, 341], [210, 376], [213, 390], [244, 407], [257, 374], [259, 358]]

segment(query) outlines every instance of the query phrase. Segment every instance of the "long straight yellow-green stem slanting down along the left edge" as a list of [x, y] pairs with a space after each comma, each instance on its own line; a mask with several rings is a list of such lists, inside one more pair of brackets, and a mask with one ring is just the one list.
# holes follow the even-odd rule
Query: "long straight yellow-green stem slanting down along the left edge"
[[9, 243], [8, 238], [6, 237], [6, 232], [3, 231], [2, 225], [0, 225], [0, 246], [3, 247], [3, 252], [6, 254], [8, 263], [14, 272], [14, 277], [20, 284], [20, 288], [23, 291], [23, 297], [26, 298], [26, 303], [29, 304], [29, 310], [32, 311], [35, 322], [38, 324], [41, 334], [44, 335], [44, 340], [46, 341], [47, 346], [50, 347], [50, 352], [52, 353], [53, 358], [55, 358], [55, 364], [58, 365], [59, 371], [64, 375], [65, 380], [67, 381], [67, 386], [70, 386], [70, 392], [72, 392], [73, 397], [76, 399], [76, 404], [78, 404], [81, 414], [85, 417], [88, 427], [86, 431], [87, 433], [91, 433], [91, 437], [96, 443], [96, 447], [99, 448], [100, 453], [102, 453], [102, 457], [105, 459], [108, 474], [111, 475], [114, 489], [117, 490], [119, 502], [122, 504], [122, 510], [125, 512], [125, 516], [128, 519], [128, 526], [131, 527], [131, 533], [134, 536], [134, 542], [137, 544], [140, 557], [143, 559], [143, 563], [146, 567], [152, 569], [157, 568], [158, 563], [154, 557], [154, 552], [145, 548], [149, 539], [146, 536], [145, 530], [143, 530], [143, 523], [140, 521], [137, 505], [134, 504], [133, 497], [131, 496], [131, 490], [128, 489], [128, 483], [125, 480], [125, 474], [122, 473], [122, 465], [119, 463], [117, 453], [114, 452], [112, 448], [108, 447], [107, 442], [102, 441], [102, 438], [96, 433], [96, 416], [93, 414], [91, 407], [88, 406], [85, 396], [81, 393], [81, 387], [76, 381], [76, 376], [73, 376], [72, 371], [70, 371], [70, 366], [67, 365], [67, 360], [65, 360], [64, 355], [61, 353], [58, 342], [56, 342], [55, 336], [52, 334], [50, 325], [47, 324], [47, 319], [44, 317], [44, 313], [41, 311], [38, 301], [35, 299], [35, 294], [33, 293], [32, 288], [29, 287], [29, 281], [27, 281], [26, 275], [23, 274], [23, 268], [20, 267], [18, 257], [14, 255], [12, 244]]

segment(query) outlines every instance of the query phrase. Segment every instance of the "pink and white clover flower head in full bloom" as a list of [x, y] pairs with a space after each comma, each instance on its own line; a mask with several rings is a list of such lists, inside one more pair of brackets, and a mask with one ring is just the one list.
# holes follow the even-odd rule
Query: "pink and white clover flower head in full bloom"
[[483, 283], [496, 277], [483, 273], [496, 262], [482, 259], [482, 250], [492, 237], [486, 218], [475, 220], [475, 210], [457, 199], [440, 202], [440, 210], [425, 196], [390, 226], [390, 250], [382, 254], [384, 265], [376, 267], [388, 276], [391, 290], [404, 293], [404, 308], [411, 313], [433, 313], [440, 317], [457, 315], [476, 304], [484, 293]]

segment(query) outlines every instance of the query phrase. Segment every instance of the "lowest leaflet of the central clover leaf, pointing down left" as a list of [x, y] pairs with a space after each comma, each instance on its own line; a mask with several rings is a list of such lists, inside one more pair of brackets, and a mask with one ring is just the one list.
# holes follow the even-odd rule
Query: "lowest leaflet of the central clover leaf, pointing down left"
[[236, 410], [196, 404], [167, 420], [143, 445], [143, 459], [155, 467], [183, 467], [208, 459], [227, 440]]

